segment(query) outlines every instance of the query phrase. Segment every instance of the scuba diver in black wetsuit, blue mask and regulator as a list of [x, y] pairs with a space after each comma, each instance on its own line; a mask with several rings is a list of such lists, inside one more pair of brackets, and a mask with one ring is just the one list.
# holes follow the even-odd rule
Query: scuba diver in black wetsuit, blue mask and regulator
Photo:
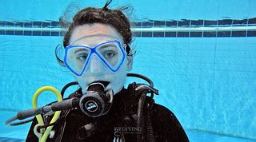
[[[61, 106], [54, 124], [50, 124], [51, 112], [42, 113], [46, 125], [37, 131], [53, 126], [46, 141], [189, 141], [174, 113], [154, 103], [158, 90], [153, 82], [127, 74], [134, 55], [130, 22], [124, 8], [111, 10], [109, 4], [75, 14], [64, 36], [63, 60], [56, 55], [76, 78], [73, 84], [80, 87], [64, 99], [75, 105]], [[141, 77], [150, 85], [132, 83], [125, 89], [127, 76]], [[38, 141], [36, 124], [34, 119], [26, 141]]]

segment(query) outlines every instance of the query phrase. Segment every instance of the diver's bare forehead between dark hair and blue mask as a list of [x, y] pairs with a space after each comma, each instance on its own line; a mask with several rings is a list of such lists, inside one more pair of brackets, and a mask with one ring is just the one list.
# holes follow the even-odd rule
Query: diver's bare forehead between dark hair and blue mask
[[70, 37], [70, 45], [98, 45], [101, 42], [119, 40], [121, 34], [112, 26], [94, 23], [77, 26]]

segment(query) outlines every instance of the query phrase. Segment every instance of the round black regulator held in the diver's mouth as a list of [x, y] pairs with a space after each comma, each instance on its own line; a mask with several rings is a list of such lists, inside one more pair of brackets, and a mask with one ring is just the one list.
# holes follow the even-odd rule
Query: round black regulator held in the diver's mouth
[[114, 93], [113, 90], [104, 92], [105, 86], [101, 82], [95, 82], [87, 87], [87, 93], [79, 102], [82, 112], [91, 117], [103, 116], [111, 108]]

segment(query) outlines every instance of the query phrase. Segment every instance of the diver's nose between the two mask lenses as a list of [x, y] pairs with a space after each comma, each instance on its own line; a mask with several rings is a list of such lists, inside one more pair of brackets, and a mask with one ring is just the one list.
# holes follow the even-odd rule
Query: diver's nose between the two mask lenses
[[102, 71], [102, 61], [99, 57], [93, 53], [90, 61], [90, 72], [91, 73], [100, 73]]

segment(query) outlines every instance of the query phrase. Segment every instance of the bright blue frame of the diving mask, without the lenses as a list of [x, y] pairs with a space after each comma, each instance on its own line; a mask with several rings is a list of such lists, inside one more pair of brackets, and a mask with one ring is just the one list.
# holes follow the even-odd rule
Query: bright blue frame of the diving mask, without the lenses
[[[118, 47], [119, 47], [119, 48], [121, 49], [121, 51], [122, 51], [122, 61], [121, 61], [121, 63], [118, 65], [118, 67], [117, 67], [116, 69], [114, 69], [114, 68], [111, 67], [109, 64], [107, 64], [106, 59], [102, 58], [102, 56], [100, 56], [100, 55], [96, 52], [96, 49], [97, 49], [99, 46], [101, 46], [101, 45], [103, 45], [103, 44], [107, 44], [107, 43], [117, 43], [117, 44], [118, 44]], [[74, 69], [72, 69], [72, 68], [70, 67], [70, 65], [67, 64], [67, 61], [66, 61], [66, 60], [67, 60], [67, 53], [68, 53], [68, 50], [71, 49], [71, 48], [76, 48], [76, 47], [82, 47], [82, 48], [90, 49], [90, 54], [88, 55], [88, 60], [86, 60], [86, 64], [82, 67], [81, 73], [78, 73], [78, 72], [74, 71]], [[103, 42], [103, 43], [101, 43], [101, 44], [99, 44], [99, 45], [96, 45], [96, 46], [94, 46], [94, 47], [85, 46], [85, 45], [68, 45], [68, 46], [66, 46], [66, 48], [65, 48], [64, 64], [66, 65], [66, 67], [67, 67], [68, 69], [70, 69], [70, 71], [71, 71], [72, 73], [74, 73], [74, 74], [77, 75], [77, 76], [82, 76], [82, 73], [84, 73], [84, 71], [86, 70], [86, 66], [88, 65], [88, 63], [89, 63], [89, 61], [90, 61], [90, 57], [91, 57], [92, 53], [95, 53], [95, 54], [98, 55], [98, 57], [102, 60], [102, 62], [103, 62], [111, 71], [117, 72], [118, 69], [121, 67], [123, 61], [125, 60], [126, 54], [125, 54], [125, 50], [124, 50], [124, 49], [125, 49], [125, 46], [122, 46], [121, 42], [118, 41], [118, 40], [106, 41], [106, 42]]]

